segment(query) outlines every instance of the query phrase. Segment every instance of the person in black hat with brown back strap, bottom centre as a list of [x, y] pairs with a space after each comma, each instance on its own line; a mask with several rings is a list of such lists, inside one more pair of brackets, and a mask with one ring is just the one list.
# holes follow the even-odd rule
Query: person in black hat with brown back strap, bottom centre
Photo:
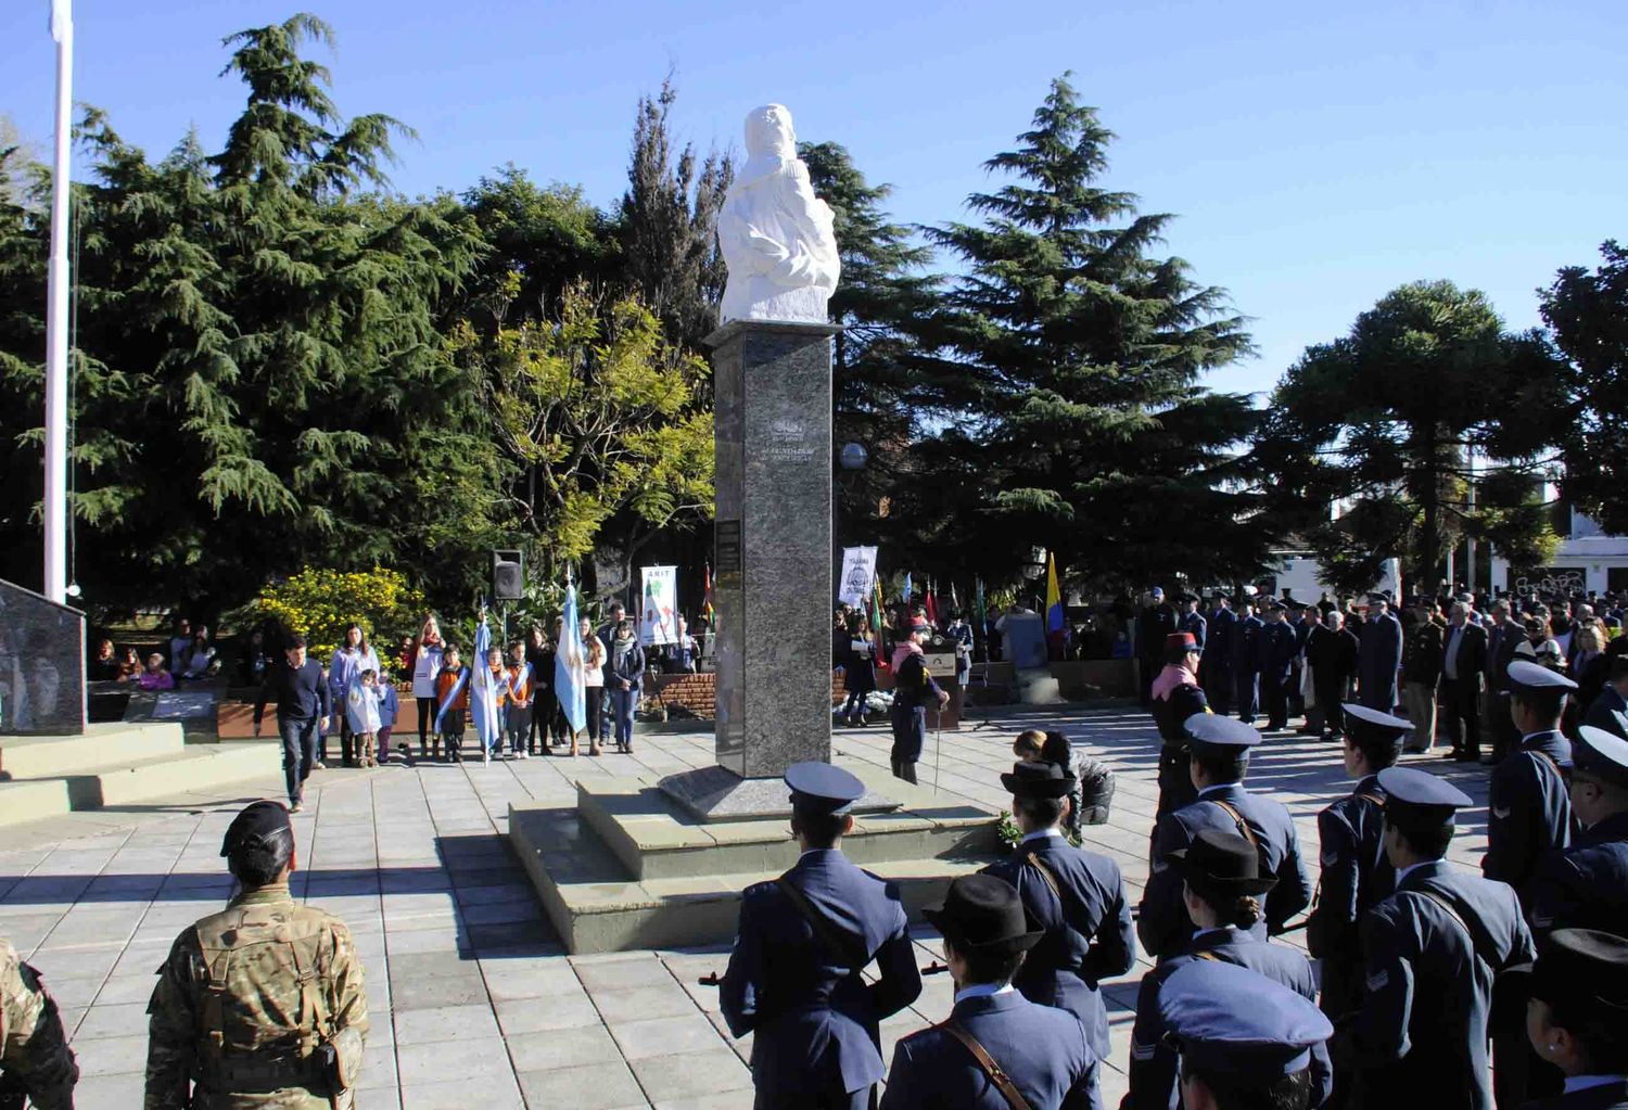
[[882, 1110], [1088, 1110], [1097, 1058], [1086, 1027], [1013, 986], [1026, 952], [1045, 936], [1029, 928], [1017, 892], [990, 874], [964, 876], [921, 913], [944, 934], [956, 1007], [894, 1048]]

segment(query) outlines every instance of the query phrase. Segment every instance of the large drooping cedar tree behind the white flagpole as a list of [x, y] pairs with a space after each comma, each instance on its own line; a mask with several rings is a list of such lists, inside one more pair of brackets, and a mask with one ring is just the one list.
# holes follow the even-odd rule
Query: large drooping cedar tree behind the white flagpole
[[[436, 330], [482, 243], [448, 197], [378, 192], [400, 129], [340, 120], [300, 55], [327, 37], [295, 16], [226, 41], [247, 103], [213, 155], [189, 135], [155, 164], [99, 112], [81, 125], [72, 511], [93, 607], [208, 612], [314, 555], [368, 568], [404, 548], [461, 594], [492, 527], [500, 459]], [[41, 215], [0, 216], [0, 519], [28, 537], [0, 573], [24, 583], [47, 239]]]

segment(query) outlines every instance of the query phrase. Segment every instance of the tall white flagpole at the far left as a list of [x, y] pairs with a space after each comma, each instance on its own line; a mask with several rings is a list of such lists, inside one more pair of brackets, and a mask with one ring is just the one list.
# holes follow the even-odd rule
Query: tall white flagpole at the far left
[[73, 153], [73, 13], [52, 0], [57, 151], [50, 171], [50, 286], [46, 304], [46, 597], [68, 594], [68, 195]]

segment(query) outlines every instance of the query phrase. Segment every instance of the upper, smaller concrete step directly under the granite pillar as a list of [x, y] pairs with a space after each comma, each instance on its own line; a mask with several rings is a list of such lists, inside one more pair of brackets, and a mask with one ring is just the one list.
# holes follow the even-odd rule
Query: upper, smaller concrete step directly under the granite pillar
[[[899, 809], [861, 814], [843, 851], [863, 867], [996, 851], [995, 817], [956, 796], [866, 771], [874, 793]], [[861, 778], [864, 776], [861, 773]], [[786, 817], [698, 822], [676, 806], [653, 778], [593, 778], [576, 784], [581, 820], [633, 881], [692, 879], [708, 874], [780, 874], [798, 861]]]

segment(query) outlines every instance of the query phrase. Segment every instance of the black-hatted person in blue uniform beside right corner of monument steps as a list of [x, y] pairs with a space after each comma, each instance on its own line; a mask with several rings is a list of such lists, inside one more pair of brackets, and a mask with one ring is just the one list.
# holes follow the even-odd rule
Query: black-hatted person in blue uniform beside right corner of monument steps
[[1068, 814], [1073, 783], [1074, 776], [1057, 763], [1016, 763], [1009, 775], [1001, 775], [1024, 837], [985, 872], [1017, 890], [1029, 928], [1044, 933], [1013, 977], [1013, 986], [1031, 1003], [1078, 1017], [1091, 1053], [1107, 1060], [1109, 1011], [1097, 983], [1130, 970], [1136, 939], [1118, 864], [1074, 848], [1058, 827]]

